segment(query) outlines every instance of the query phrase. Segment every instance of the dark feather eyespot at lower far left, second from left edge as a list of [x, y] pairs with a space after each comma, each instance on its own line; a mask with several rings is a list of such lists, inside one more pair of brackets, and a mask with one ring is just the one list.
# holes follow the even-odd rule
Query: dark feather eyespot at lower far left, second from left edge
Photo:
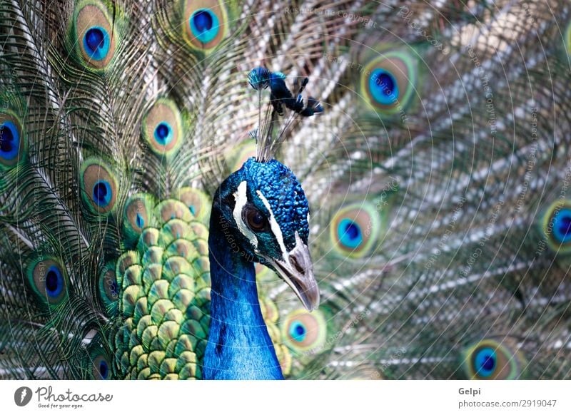
[[28, 267], [27, 279], [41, 302], [55, 306], [68, 297], [69, 279], [61, 262], [55, 257], [40, 257]]

